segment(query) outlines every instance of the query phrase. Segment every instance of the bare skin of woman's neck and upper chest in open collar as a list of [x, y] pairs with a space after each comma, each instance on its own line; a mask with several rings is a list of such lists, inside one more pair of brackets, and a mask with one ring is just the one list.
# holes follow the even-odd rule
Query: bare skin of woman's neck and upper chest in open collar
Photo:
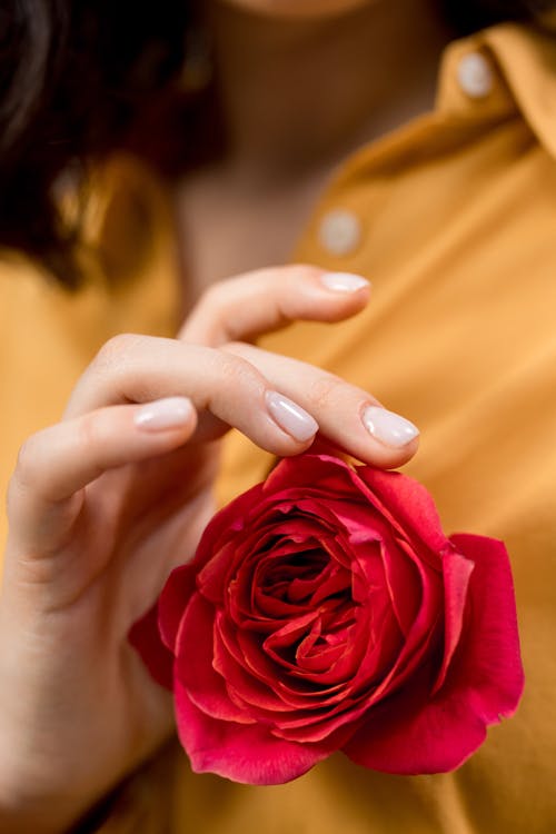
[[176, 190], [185, 312], [214, 281], [287, 261], [334, 169], [433, 106], [453, 33], [430, 0], [342, 2], [296, 20], [268, 0], [209, 4], [230, 142]]

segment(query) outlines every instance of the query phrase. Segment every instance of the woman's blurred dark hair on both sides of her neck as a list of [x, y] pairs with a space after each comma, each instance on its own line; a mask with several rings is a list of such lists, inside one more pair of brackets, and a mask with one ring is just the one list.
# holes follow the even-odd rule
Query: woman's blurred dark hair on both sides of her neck
[[[440, 0], [463, 33], [527, 20], [556, 0]], [[149, 119], [173, 113], [190, 148], [210, 112], [207, 91], [172, 87], [198, 31], [187, 0], [2, 0], [0, 8], [0, 247], [26, 251], [64, 285], [79, 282], [79, 222], [60, 212], [54, 185], [71, 168], [131, 148], [162, 165]], [[179, 107], [167, 107], [178, 102]], [[153, 117], [153, 115], [156, 115]], [[162, 120], [163, 122], [163, 120]], [[172, 131], [168, 129], [170, 137]]]

